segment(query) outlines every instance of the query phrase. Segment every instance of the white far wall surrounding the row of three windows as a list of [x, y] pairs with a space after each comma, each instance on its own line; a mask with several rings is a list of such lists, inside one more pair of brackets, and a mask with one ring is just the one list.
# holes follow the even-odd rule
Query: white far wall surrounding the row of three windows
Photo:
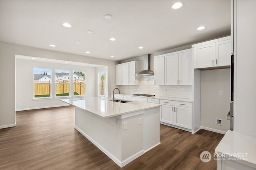
[[96, 96], [96, 68], [77, 66], [70, 64], [48, 63], [42, 61], [31, 61], [16, 59], [16, 111], [27, 109], [38, 109], [46, 107], [66, 106], [60, 102], [60, 97], [55, 97], [55, 85], [52, 83], [52, 98], [34, 98], [33, 92], [33, 68], [50, 68], [52, 70], [52, 82], [55, 81], [55, 69], [70, 70], [70, 94], [73, 92], [73, 71], [86, 72], [86, 96]]

